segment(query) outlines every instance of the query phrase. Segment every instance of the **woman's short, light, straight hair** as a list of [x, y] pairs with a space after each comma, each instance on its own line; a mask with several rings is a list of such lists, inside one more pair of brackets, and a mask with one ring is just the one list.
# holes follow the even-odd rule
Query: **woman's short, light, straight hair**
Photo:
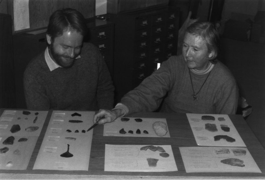
[[211, 22], [194, 22], [187, 29], [186, 32], [200, 36], [206, 42], [209, 51], [214, 52], [215, 59], [219, 53], [220, 38], [215, 25]]

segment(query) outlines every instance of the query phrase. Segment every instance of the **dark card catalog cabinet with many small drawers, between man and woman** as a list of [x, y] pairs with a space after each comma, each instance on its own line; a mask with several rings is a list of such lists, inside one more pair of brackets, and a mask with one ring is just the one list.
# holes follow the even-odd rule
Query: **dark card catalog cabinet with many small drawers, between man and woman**
[[123, 14], [108, 14], [115, 23], [115, 100], [135, 88], [177, 53], [179, 10], [164, 6]]

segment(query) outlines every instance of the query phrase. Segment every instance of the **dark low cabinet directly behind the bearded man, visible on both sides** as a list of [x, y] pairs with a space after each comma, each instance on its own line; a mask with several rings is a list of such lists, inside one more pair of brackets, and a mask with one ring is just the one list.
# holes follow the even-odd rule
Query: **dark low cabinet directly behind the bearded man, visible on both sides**
[[[103, 58], [112, 75], [113, 72], [113, 32], [114, 24], [99, 19], [91, 19], [87, 22], [89, 34], [85, 42], [95, 44], [103, 55]], [[29, 61], [47, 47], [46, 32], [41, 34], [17, 34], [13, 36], [14, 70], [16, 87], [16, 108], [26, 108], [23, 73]]]

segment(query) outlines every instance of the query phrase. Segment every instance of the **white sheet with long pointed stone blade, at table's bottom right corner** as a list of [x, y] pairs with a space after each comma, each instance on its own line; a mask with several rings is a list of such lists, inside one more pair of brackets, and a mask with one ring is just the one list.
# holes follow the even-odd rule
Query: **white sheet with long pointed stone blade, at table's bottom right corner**
[[[247, 148], [243, 147], [180, 147], [187, 173], [193, 172], [246, 172], [261, 173]], [[236, 151], [245, 151], [245, 155], [236, 155]], [[224, 164], [225, 159], [237, 159], [238, 166]], [[228, 161], [228, 160], [225, 160]]]

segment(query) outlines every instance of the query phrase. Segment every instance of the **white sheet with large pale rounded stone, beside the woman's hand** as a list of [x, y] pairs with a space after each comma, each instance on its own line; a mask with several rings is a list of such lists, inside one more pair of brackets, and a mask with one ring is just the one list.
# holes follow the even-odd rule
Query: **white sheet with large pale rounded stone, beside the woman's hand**
[[[137, 122], [135, 119], [139, 118], [129, 118], [130, 120], [124, 122], [121, 120], [122, 118], [117, 118], [112, 123], [106, 123], [104, 124], [104, 136], [132, 136], [132, 137], [170, 137], [169, 131], [168, 131], [168, 125], [165, 118], [140, 118], [143, 121]], [[158, 136], [154, 129], [153, 129], [153, 123], [161, 121], [166, 124], [167, 126], [167, 133], [164, 136]], [[121, 134], [120, 130], [124, 129], [126, 132], [125, 134]], [[140, 134], [137, 134], [136, 131], [140, 130]], [[133, 133], [129, 133], [129, 131], [132, 131]], [[147, 131], [147, 133], [144, 133], [144, 131]]]

